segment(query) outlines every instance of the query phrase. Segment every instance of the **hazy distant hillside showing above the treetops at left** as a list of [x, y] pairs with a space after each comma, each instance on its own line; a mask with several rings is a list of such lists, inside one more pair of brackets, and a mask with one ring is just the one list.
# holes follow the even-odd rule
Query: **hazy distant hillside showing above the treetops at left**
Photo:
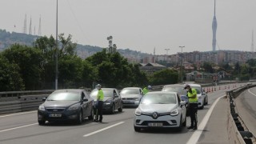
[[[33, 46], [33, 42], [39, 36], [22, 34], [15, 32], [8, 32], [6, 30], [0, 29], [0, 51], [7, 49], [11, 45], [18, 43], [26, 46]], [[92, 54], [102, 51], [102, 47], [99, 46], [89, 46], [89, 45], [77, 45], [77, 54], [81, 58], [87, 58]], [[130, 50], [130, 49], [118, 49], [118, 52], [125, 57], [134, 57], [134, 58], [144, 58], [150, 54], [141, 53], [139, 51]]]

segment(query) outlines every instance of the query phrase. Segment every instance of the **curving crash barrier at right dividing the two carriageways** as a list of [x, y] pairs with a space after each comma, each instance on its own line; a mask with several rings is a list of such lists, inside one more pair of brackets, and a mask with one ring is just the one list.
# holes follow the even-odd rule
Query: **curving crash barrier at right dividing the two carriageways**
[[255, 136], [248, 130], [242, 118], [238, 114], [236, 109], [234, 98], [237, 98], [242, 91], [253, 87], [244, 86], [235, 90], [230, 90], [226, 92], [227, 100], [229, 102], [229, 118], [228, 118], [228, 133], [229, 139], [234, 141], [231, 143], [246, 143], [250, 144], [256, 142]]

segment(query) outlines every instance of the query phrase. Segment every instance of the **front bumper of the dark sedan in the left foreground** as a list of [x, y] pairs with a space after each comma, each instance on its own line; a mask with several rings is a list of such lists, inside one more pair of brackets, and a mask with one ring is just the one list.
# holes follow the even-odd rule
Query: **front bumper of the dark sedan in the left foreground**
[[62, 113], [51, 113], [38, 110], [38, 121], [72, 121], [78, 118], [80, 111], [70, 110]]

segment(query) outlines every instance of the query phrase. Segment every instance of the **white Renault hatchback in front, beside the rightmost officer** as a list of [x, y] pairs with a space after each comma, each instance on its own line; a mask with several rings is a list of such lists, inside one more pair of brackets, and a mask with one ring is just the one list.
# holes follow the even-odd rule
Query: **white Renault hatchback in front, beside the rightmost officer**
[[134, 130], [147, 127], [186, 126], [186, 102], [176, 92], [154, 91], [145, 94], [134, 114]]

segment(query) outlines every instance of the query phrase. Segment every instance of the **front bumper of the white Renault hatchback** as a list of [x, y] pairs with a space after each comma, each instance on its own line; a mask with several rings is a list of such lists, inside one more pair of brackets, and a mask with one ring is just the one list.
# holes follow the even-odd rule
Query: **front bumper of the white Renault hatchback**
[[178, 127], [180, 126], [181, 115], [163, 115], [154, 119], [149, 115], [135, 115], [134, 126], [136, 127]]

